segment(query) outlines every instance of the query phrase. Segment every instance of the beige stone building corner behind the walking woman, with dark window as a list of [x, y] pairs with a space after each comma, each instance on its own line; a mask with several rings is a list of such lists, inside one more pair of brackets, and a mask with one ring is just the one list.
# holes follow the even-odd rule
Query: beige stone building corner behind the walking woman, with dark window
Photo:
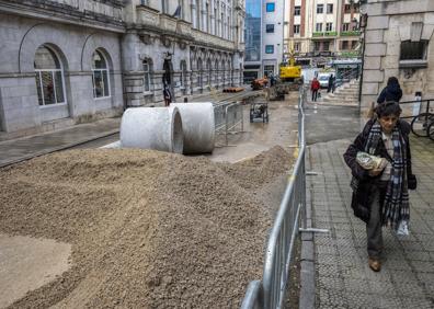
[[401, 101], [434, 96], [434, 1], [369, 0], [362, 87], [362, 110], [376, 102], [389, 77], [397, 77]]

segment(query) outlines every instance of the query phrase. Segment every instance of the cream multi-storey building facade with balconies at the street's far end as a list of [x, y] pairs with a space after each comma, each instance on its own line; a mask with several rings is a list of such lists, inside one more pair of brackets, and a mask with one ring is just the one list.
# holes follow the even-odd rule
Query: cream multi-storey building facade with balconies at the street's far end
[[351, 0], [286, 0], [284, 54], [305, 65], [354, 57], [359, 48], [359, 4]]

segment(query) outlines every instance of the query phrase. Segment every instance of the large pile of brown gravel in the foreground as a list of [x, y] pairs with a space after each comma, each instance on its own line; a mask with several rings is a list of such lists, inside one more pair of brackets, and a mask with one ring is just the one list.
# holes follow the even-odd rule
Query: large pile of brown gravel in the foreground
[[1, 170], [0, 232], [72, 244], [69, 271], [11, 307], [238, 308], [272, 221], [252, 191], [289, 161], [98, 149]]

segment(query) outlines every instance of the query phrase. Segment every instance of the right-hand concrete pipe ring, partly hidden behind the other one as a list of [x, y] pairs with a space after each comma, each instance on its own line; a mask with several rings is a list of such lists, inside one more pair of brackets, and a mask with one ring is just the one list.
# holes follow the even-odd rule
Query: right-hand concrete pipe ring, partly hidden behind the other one
[[171, 103], [179, 108], [184, 131], [184, 153], [209, 153], [215, 144], [213, 103]]

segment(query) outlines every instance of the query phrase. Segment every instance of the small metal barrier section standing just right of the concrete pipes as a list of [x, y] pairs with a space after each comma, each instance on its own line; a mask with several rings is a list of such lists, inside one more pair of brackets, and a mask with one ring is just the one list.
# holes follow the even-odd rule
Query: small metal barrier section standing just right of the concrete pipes
[[228, 134], [244, 129], [244, 119], [241, 102], [225, 102], [214, 104], [214, 118], [216, 134], [225, 135], [225, 142], [228, 145]]

